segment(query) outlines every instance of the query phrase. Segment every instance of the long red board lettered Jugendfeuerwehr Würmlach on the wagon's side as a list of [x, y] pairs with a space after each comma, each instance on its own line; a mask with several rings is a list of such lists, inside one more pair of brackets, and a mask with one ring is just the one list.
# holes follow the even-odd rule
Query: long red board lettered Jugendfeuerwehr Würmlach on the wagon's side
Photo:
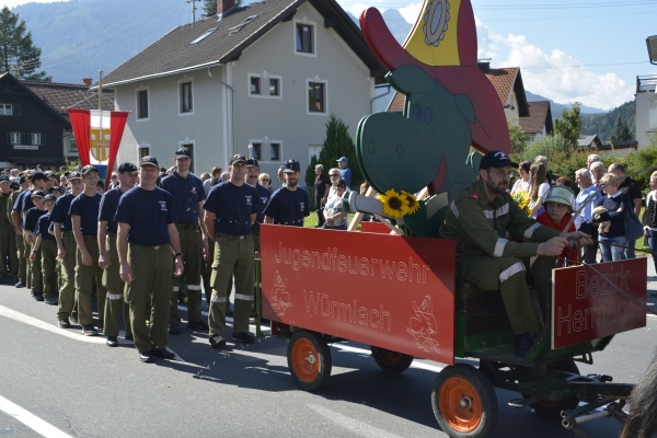
[[453, 364], [456, 243], [261, 226], [263, 316]]

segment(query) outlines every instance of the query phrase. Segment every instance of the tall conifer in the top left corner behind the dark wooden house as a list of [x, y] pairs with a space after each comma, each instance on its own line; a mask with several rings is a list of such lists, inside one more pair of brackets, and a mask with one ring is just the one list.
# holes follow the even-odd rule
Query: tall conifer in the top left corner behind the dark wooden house
[[0, 61], [2, 71], [10, 72], [19, 80], [49, 82], [41, 67], [41, 48], [32, 43], [32, 32], [27, 32], [25, 21], [19, 22], [19, 15], [9, 8], [0, 11]]

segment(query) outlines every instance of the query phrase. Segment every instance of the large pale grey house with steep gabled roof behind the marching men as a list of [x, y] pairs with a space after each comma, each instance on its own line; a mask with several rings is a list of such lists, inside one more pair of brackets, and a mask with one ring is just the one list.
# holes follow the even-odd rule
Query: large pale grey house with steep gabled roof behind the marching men
[[184, 146], [196, 174], [244, 153], [275, 176], [319, 155], [331, 114], [356, 135], [384, 71], [334, 0], [217, 3], [218, 18], [174, 28], [104, 78], [131, 112], [117, 163], [151, 154], [169, 168]]

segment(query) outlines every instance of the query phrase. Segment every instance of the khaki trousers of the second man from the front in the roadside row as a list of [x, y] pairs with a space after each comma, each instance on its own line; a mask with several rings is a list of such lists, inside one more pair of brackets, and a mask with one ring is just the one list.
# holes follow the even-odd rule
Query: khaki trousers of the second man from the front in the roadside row
[[110, 257], [110, 266], [103, 272], [103, 286], [107, 289], [107, 301], [105, 302], [105, 318], [103, 333], [105, 336], [118, 336], [120, 319], [124, 319], [126, 336], [132, 335], [130, 328], [130, 307], [124, 300], [124, 288], [126, 284], [120, 279], [120, 264], [116, 249], [116, 233], [107, 233], [105, 251]]

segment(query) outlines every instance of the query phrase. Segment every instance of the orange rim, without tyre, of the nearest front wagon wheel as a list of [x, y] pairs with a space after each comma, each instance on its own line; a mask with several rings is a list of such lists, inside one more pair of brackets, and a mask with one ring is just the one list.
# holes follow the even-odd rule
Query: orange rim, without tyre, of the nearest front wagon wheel
[[438, 395], [440, 413], [451, 428], [460, 433], [474, 430], [482, 419], [482, 402], [474, 387], [459, 377], [448, 379]]

